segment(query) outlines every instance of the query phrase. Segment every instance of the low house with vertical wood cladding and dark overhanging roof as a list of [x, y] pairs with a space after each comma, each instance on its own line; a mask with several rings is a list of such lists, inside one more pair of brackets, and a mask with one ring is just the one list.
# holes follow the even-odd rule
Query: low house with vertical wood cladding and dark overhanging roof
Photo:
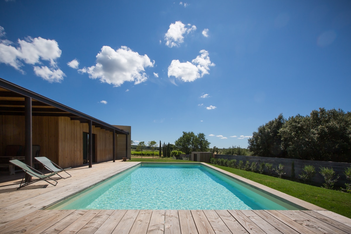
[[[91, 136], [91, 137], [90, 137]], [[32, 145], [62, 168], [131, 157], [131, 126], [110, 125], [0, 78], [0, 155], [21, 145], [33, 162]]]

